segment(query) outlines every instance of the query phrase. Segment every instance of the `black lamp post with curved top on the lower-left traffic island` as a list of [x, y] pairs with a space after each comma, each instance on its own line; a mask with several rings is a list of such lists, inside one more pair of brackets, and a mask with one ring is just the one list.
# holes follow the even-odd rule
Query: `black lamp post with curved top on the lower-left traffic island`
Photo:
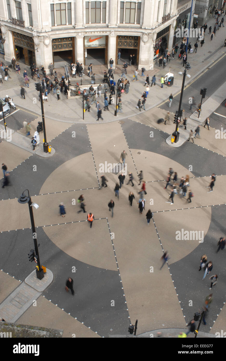
[[[28, 192], [28, 196], [23, 194], [25, 191]], [[29, 194], [29, 190], [26, 189], [25, 191], [23, 191], [22, 195], [18, 198], [18, 202], [21, 204], [28, 203], [28, 206], [29, 206], [31, 229], [32, 229], [32, 235], [33, 235], [34, 246], [35, 246], [35, 258], [37, 260], [37, 265], [38, 265], [38, 270], [36, 269], [36, 276], [37, 276], [37, 278], [42, 279], [44, 277], [44, 271], [40, 265], [38, 243], [37, 243], [36, 232], [35, 232], [35, 221], [34, 221], [34, 214], [33, 214], [33, 209], [32, 209], [32, 201], [31, 201], [31, 197]]]

